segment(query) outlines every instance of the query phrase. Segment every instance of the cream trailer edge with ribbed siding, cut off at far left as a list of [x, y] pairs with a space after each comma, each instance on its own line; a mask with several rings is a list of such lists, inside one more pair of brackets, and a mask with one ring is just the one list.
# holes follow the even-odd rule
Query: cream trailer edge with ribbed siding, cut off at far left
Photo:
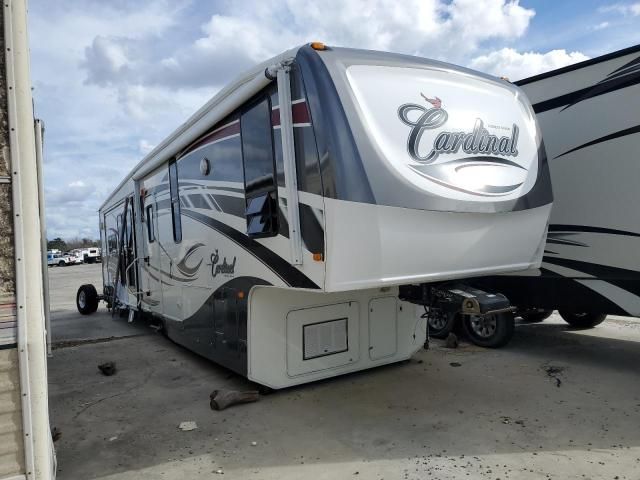
[[52, 480], [37, 160], [42, 126], [33, 118], [26, 2], [6, 0], [1, 8], [0, 479]]

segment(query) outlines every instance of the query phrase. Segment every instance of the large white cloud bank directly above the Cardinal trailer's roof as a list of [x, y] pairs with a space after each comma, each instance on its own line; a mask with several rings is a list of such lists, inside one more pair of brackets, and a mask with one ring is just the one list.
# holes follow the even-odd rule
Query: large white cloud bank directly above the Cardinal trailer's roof
[[534, 15], [519, 0], [242, 0], [232, 12], [212, 15], [199, 38], [161, 58], [149, 53], [145, 37], [96, 38], [83, 66], [92, 83], [184, 89], [219, 87], [311, 40], [461, 61], [486, 41], [522, 36]]

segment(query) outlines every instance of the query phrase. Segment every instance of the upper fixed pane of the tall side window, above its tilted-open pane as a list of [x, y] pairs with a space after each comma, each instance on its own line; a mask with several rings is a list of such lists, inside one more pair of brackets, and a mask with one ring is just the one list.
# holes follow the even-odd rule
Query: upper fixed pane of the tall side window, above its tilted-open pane
[[241, 119], [242, 156], [247, 197], [275, 188], [271, 107], [265, 98], [247, 110]]

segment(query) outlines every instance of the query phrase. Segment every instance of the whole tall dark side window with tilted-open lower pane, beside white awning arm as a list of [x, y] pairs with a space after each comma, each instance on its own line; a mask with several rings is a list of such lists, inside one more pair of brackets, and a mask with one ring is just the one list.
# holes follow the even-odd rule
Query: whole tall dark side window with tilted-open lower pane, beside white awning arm
[[240, 118], [247, 235], [252, 237], [278, 233], [278, 191], [271, 130], [271, 106], [265, 97]]

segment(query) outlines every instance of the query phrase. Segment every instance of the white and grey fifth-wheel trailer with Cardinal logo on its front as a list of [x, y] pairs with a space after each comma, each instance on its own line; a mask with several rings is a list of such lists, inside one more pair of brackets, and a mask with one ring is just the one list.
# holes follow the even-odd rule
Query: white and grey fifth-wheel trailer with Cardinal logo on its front
[[287, 387], [409, 358], [416, 305], [510, 314], [460, 279], [539, 267], [551, 203], [518, 87], [306, 45], [224, 88], [107, 198], [103, 291], [83, 285], [78, 308], [151, 315]]

